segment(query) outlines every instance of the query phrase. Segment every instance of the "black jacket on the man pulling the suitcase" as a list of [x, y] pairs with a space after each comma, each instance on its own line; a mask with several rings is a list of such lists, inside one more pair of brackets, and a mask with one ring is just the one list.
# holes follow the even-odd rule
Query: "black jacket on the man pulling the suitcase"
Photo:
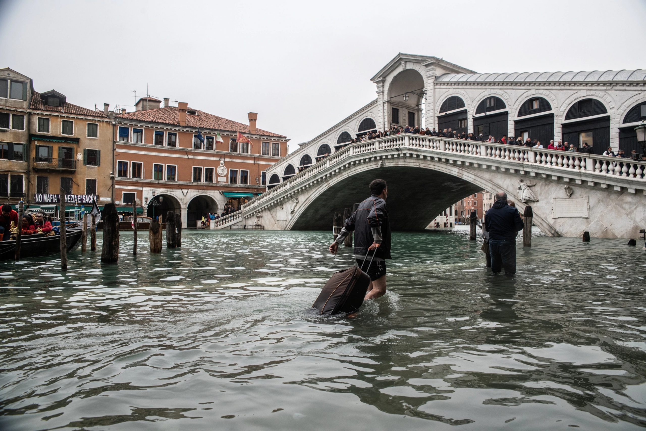
[[365, 256], [368, 247], [375, 241], [372, 235], [373, 227], [380, 227], [383, 239], [375, 257], [390, 259], [390, 222], [388, 222], [388, 211], [386, 201], [375, 196], [364, 200], [359, 204], [357, 211], [346, 220], [345, 229], [348, 232], [355, 231], [355, 256]]

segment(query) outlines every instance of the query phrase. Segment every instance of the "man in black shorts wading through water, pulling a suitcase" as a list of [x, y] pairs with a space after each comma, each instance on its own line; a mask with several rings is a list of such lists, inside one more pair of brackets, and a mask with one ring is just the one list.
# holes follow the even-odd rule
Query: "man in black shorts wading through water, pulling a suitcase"
[[[329, 246], [329, 252], [337, 254], [339, 244], [355, 231], [355, 259], [359, 268], [366, 258], [368, 250], [375, 251], [367, 273], [370, 275], [370, 286], [365, 299], [377, 299], [386, 293], [386, 260], [390, 259], [390, 224], [386, 211], [388, 185], [384, 180], [374, 180], [370, 183], [372, 196], [359, 204], [357, 211], [346, 220], [337, 240]], [[370, 262], [370, 256], [368, 256]], [[366, 262], [366, 265], [368, 264]], [[366, 269], [366, 266], [364, 266]]]

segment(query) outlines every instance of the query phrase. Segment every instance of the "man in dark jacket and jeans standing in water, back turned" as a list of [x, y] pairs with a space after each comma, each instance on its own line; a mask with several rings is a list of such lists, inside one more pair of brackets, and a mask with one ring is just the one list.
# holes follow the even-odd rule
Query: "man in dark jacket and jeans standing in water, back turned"
[[505, 274], [515, 274], [516, 234], [525, 224], [518, 210], [508, 204], [505, 192], [495, 194], [495, 203], [485, 214], [485, 227], [489, 233], [491, 271], [499, 273], [503, 266]]

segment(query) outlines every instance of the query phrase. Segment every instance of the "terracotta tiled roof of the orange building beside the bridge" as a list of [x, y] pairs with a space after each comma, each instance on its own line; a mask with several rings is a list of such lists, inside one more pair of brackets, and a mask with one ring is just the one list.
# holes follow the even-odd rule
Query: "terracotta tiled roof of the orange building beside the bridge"
[[[203, 110], [188, 108], [187, 110], [194, 110], [196, 114], [186, 114], [186, 127], [194, 127], [196, 129], [209, 129], [213, 131], [225, 132], [249, 132], [249, 125], [238, 123], [238, 121], [227, 120], [226, 118], [218, 117]], [[132, 120], [132, 121], [146, 121], [148, 123], [160, 123], [167, 125], [180, 125], [180, 112], [176, 106], [169, 106], [160, 109], [138, 110], [135, 112], [127, 112], [116, 116], [117, 119]], [[260, 136], [273, 136], [275, 138], [286, 138], [282, 134], [267, 132], [262, 129], [256, 129], [257, 135]]]

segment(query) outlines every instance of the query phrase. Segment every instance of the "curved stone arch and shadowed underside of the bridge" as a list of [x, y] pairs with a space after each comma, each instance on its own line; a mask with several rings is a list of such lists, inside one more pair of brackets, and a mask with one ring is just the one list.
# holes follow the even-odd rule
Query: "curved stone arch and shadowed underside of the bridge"
[[[519, 181], [515, 177], [492, 176], [488, 171], [483, 174], [477, 169], [419, 158], [380, 162], [360, 163], [343, 175], [320, 182], [307, 198], [299, 199], [286, 229], [328, 230], [335, 211], [370, 196], [368, 185], [375, 178], [388, 183], [388, 213], [395, 231], [424, 230], [444, 209], [481, 190], [504, 191], [521, 213], [525, 209], [518, 198]], [[547, 235], [561, 235], [541, 211], [534, 211], [534, 223]]]

